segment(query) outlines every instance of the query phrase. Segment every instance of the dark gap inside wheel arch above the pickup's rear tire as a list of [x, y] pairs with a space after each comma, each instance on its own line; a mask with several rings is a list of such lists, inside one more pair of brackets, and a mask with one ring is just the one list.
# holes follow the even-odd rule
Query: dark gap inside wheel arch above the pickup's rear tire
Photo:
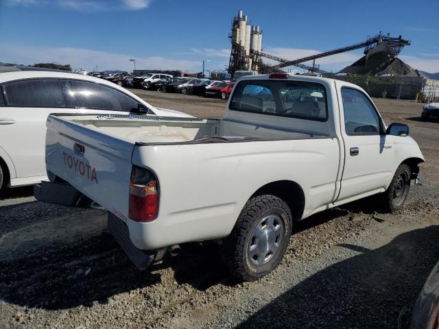
[[305, 210], [305, 193], [298, 183], [291, 180], [270, 182], [258, 188], [250, 199], [263, 194], [274, 195], [283, 199], [289, 210], [291, 210], [293, 219], [299, 220], [302, 218], [303, 211]]

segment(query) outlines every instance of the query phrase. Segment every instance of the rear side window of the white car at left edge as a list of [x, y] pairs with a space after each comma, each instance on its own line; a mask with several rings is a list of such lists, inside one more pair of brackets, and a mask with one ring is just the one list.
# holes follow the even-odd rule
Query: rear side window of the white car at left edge
[[64, 108], [60, 84], [56, 79], [34, 79], [3, 85], [8, 106]]

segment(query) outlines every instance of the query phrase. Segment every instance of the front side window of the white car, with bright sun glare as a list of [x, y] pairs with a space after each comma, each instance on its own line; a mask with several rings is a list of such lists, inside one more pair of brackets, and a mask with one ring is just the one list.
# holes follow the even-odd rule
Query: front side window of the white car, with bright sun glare
[[78, 80], [69, 80], [69, 86], [68, 93], [75, 97], [81, 108], [122, 112], [137, 110], [135, 99], [108, 86]]

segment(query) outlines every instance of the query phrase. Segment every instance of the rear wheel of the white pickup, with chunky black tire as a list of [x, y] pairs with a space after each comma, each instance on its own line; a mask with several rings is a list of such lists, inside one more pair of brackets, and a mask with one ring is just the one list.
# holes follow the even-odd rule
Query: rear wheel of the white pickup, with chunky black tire
[[[273, 223], [270, 226], [270, 218], [273, 219], [276, 226]], [[268, 241], [263, 241], [263, 239], [259, 241], [254, 234], [255, 232], [264, 232], [264, 230], [259, 229], [264, 228], [264, 225], [265, 234], [261, 234], [261, 236], [268, 236]], [[270, 227], [276, 230], [272, 230]], [[232, 232], [222, 243], [222, 261], [228, 271], [239, 280], [257, 280], [272, 271], [281, 262], [289, 243], [291, 230], [291, 211], [282, 199], [274, 195], [252, 197], [241, 211]], [[272, 234], [275, 234], [274, 240], [270, 240]], [[276, 246], [272, 254], [270, 254], [270, 245]], [[255, 255], [250, 256], [252, 248], [253, 250], [257, 249], [255, 252], [255, 254], [259, 253], [257, 258], [254, 258]], [[263, 258], [259, 258], [261, 254], [264, 255]]]

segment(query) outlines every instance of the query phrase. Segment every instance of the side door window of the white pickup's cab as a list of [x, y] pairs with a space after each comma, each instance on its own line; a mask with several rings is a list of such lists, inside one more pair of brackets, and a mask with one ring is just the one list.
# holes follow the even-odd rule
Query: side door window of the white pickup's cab
[[342, 88], [342, 101], [346, 134], [379, 134], [379, 116], [363, 93], [351, 88]]

